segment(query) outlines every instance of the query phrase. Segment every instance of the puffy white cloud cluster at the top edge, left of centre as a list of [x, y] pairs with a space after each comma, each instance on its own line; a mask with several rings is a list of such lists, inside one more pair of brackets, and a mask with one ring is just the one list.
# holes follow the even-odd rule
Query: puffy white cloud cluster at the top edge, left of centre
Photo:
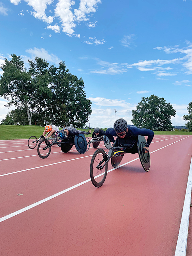
[[[10, 0], [11, 3], [17, 5], [20, 3], [20, 0]], [[59, 19], [61, 22], [62, 31], [68, 35], [72, 35], [74, 33], [74, 28], [83, 21], [89, 20], [89, 14], [94, 13], [97, 10], [97, 4], [101, 3], [101, 0], [80, 0], [79, 8], [73, 10], [73, 5], [75, 2], [73, 0], [58, 0], [56, 4], [56, 8], [53, 5], [54, 0], [24, 0], [28, 3], [29, 6], [33, 9], [31, 14], [41, 21], [45, 22], [46, 24], [51, 24], [54, 19]], [[47, 16], [46, 9], [47, 6], [51, 5], [54, 7], [55, 15]], [[5, 12], [5, 10], [4, 10]], [[52, 11], [49, 10], [49, 13]], [[23, 14], [20, 14], [23, 15]], [[89, 22], [88, 27], [93, 28], [96, 26], [97, 21]], [[54, 26], [52, 26], [54, 27]], [[60, 29], [51, 28], [56, 33], [60, 31]], [[78, 36], [79, 37], [79, 36]]]

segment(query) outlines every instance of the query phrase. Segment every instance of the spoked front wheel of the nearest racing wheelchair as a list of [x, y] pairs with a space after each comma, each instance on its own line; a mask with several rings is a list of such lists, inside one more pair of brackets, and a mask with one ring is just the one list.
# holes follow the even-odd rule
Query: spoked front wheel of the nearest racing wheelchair
[[106, 154], [103, 149], [98, 149], [92, 156], [90, 165], [91, 181], [95, 187], [101, 187], [107, 176], [108, 163], [102, 169], [102, 166], [106, 162]]

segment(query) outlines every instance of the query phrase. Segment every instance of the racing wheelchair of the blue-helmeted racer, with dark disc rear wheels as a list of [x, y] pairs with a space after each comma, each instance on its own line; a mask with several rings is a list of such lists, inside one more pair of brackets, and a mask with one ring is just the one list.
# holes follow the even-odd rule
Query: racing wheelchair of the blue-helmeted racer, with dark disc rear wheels
[[89, 138], [85, 137], [84, 134], [79, 134], [78, 136], [75, 135], [75, 137], [69, 137], [68, 139], [63, 139], [62, 132], [57, 131], [55, 134], [55, 138], [52, 142], [50, 142], [47, 139], [43, 139], [40, 141], [37, 152], [38, 155], [41, 158], [47, 158], [49, 154], [51, 153], [51, 146], [53, 145], [60, 145], [61, 151], [63, 153], [67, 153], [71, 150], [73, 145], [75, 145], [76, 150], [79, 154], [84, 154], [87, 149], [87, 144], [90, 142]]

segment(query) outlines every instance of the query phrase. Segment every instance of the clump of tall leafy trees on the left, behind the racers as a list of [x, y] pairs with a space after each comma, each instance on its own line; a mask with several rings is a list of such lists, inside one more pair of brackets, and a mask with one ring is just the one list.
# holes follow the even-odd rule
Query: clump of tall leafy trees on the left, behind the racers
[[1, 124], [57, 126], [83, 128], [91, 114], [91, 101], [86, 99], [84, 81], [71, 74], [63, 61], [59, 67], [35, 57], [24, 61], [15, 54], [0, 67], [0, 95], [17, 108], [8, 113]]

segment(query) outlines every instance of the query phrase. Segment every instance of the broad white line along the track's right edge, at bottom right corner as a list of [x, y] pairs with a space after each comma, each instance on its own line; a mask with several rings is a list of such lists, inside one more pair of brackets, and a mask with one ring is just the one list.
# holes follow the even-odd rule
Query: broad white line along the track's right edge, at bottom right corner
[[191, 165], [189, 169], [189, 176], [187, 181], [186, 194], [183, 204], [183, 212], [181, 217], [181, 224], [179, 228], [179, 235], [175, 250], [175, 256], [185, 256], [187, 250], [187, 237], [189, 229], [189, 216], [190, 216], [190, 207], [191, 207], [191, 189], [192, 189], [192, 157]]

